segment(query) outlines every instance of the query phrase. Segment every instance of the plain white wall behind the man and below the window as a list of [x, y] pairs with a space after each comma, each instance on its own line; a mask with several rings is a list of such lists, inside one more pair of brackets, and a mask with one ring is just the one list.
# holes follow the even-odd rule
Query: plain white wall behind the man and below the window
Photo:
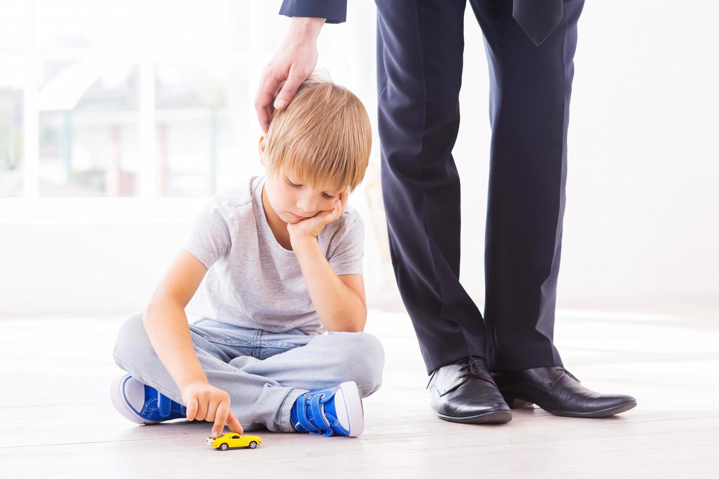
[[[262, 5], [274, 14], [279, 2]], [[350, 1], [349, 23], [325, 27], [319, 66], [358, 93], [374, 120], [372, 9], [369, 1]], [[569, 126], [561, 300], [719, 293], [718, 14], [708, 0], [690, 9], [664, 0], [651, 9], [638, 0], [585, 5]], [[487, 65], [469, 8], [465, 23], [454, 156], [463, 185], [462, 283], [481, 305]], [[277, 32], [286, 24], [278, 18]], [[251, 82], [282, 36], [264, 33], [257, 65], [248, 66]], [[375, 148], [375, 161], [376, 155]], [[119, 223], [111, 211], [101, 222], [63, 223], [51, 212], [28, 221], [16, 208], [0, 200], [0, 313], [141, 309], [196, 206], [172, 218]], [[382, 219], [375, 223], [381, 237]], [[368, 294], [380, 294], [386, 269], [380, 251], [370, 256]]]

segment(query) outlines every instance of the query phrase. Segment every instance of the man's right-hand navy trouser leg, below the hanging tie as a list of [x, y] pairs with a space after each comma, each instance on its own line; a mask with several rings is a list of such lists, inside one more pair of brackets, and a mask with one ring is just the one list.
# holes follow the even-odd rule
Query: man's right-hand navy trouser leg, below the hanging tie
[[583, 0], [539, 47], [511, 1], [470, 0], [490, 68], [485, 325], [493, 371], [562, 366], [554, 306], [562, 250], [567, 126]]

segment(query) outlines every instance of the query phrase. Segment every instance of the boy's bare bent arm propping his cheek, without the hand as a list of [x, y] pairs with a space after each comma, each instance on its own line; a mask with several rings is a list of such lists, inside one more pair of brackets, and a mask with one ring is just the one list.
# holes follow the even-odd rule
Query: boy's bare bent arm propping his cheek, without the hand
[[328, 331], [359, 332], [367, 322], [362, 274], [337, 276], [324, 257], [317, 238], [292, 243], [305, 277], [312, 304]]

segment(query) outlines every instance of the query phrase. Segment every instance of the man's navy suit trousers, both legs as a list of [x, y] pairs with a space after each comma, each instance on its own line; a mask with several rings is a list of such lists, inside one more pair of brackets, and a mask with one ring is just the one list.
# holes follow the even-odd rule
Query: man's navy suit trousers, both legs
[[[376, 0], [382, 187], [398, 288], [428, 373], [468, 355], [492, 371], [561, 366], [554, 309], [567, 126], [584, 0], [537, 47], [510, 0], [470, 0], [490, 70], [485, 312], [459, 283], [465, 0]], [[480, 152], [477, 152], [479, 157]]]

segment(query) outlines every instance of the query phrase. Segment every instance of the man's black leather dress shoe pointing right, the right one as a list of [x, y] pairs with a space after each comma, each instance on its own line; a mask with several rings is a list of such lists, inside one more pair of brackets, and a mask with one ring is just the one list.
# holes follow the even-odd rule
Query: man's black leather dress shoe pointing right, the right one
[[492, 373], [507, 404], [536, 404], [551, 414], [571, 417], [605, 417], [628, 411], [636, 399], [626, 394], [600, 394], [580, 385], [562, 366]]

